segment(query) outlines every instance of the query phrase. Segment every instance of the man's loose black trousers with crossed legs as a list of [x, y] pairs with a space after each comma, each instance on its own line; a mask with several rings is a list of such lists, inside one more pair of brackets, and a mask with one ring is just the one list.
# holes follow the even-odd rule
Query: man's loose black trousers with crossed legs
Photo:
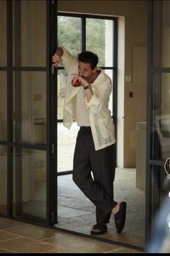
[[[90, 127], [80, 127], [73, 161], [73, 180], [95, 204], [96, 223], [109, 223], [114, 201], [115, 144], [95, 151]], [[91, 175], [93, 172], [93, 177]]]

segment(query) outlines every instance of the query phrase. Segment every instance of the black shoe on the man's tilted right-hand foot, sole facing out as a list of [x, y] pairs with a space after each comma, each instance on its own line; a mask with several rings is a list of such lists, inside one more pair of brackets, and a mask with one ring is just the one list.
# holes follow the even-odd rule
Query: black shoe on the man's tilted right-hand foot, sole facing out
[[124, 229], [126, 213], [127, 203], [125, 201], [122, 201], [122, 203], [120, 203], [119, 212], [116, 212], [116, 215], [114, 215], [114, 222], [116, 224], [117, 233], [121, 233]]

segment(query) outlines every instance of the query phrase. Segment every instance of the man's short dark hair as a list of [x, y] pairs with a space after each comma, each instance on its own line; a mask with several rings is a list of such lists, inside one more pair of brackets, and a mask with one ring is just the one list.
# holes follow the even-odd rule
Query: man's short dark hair
[[78, 60], [82, 63], [90, 63], [90, 67], [93, 70], [98, 64], [98, 55], [95, 55], [93, 52], [85, 51], [78, 55]]

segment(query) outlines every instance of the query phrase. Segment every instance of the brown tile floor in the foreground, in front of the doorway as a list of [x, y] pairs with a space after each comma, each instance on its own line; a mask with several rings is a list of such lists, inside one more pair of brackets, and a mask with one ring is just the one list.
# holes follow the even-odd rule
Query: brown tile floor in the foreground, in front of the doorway
[[0, 253], [142, 253], [52, 228], [0, 217]]

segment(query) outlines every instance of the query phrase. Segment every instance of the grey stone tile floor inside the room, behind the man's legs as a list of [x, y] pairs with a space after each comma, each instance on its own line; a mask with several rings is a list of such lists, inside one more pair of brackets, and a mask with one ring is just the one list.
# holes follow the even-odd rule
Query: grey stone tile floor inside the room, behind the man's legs
[[[145, 248], [145, 191], [136, 188], [135, 169], [116, 168], [114, 191], [116, 201], [127, 201], [127, 218], [122, 234], [116, 233], [111, 216], [104, 241]], [[90, 235], [95, 224], [95, 207], [72, 181], [72, 175], [58, 177], [58, 221], [64, 230]]]

